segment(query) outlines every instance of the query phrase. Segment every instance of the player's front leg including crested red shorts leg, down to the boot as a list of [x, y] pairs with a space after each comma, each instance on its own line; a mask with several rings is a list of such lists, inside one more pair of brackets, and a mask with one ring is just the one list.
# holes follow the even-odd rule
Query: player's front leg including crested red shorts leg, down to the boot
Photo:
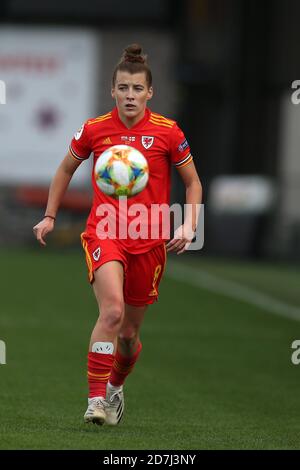
[[99, 240], [93, 232], [82, 233], [81, 242], [100, 312], [88, 353], [89, 407], [84, 418], [103, 424], [106, 384], [124, 315], [123, 281], [127, 258], [114, 240]]

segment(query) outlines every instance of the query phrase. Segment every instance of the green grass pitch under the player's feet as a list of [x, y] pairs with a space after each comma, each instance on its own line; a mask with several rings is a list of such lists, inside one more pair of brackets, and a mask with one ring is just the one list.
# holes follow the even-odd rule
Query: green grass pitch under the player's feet
[[[184, 255], [186, 256], [186, 255]], [[197, 256], [189, 265], [300, 305], [299, 272]], [[300, 322], [167, 275], [118, 427], [83, 423], [97, 318], [81, 252], [0, 252], [1, 449], [299, 449]]]

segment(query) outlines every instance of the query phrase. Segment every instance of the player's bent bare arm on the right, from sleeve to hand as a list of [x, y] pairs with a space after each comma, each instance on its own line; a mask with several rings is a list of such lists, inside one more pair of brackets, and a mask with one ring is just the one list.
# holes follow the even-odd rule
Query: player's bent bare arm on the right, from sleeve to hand
[[167, 245], [167, 251], [174, 251], [178, 255], [184, 253], [190, 246], [196, 232], [200, 204], [202, 201], [202, 185], [194, 162], [177, 168], [186, 188], [186, 208], [183, 225], [178, 227], [174, 238]]

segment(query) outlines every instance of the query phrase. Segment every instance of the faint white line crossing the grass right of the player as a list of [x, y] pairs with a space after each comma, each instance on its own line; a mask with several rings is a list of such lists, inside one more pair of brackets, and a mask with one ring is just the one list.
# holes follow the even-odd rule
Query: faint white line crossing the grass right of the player
[[167, 267], [166, 276], [170, 279], [185, 282], [215, 294], [222, 294], [226, 297], [247, 302], [274, 315], [300, 321], [300, 308], [276, 300], [256, 289], [246, 287], [238, 282], [227, 281], [226, 279], [209, 274], [202, 269], [174, 261], [168, 261]]

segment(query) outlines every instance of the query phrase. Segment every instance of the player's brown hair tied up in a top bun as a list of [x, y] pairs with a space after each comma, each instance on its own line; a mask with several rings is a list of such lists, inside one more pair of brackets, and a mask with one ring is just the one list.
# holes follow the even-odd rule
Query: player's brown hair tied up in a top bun
[[147, 86], [152, 86], [152, 73], [147, 64], [147, 56], [143, 54], [142, 46], [139, 44], [130, 44], [122, 54], [122, 57], [115, 67], [112, 85], [115, 86], [118, 71], [133, 73], [145, 72]]

